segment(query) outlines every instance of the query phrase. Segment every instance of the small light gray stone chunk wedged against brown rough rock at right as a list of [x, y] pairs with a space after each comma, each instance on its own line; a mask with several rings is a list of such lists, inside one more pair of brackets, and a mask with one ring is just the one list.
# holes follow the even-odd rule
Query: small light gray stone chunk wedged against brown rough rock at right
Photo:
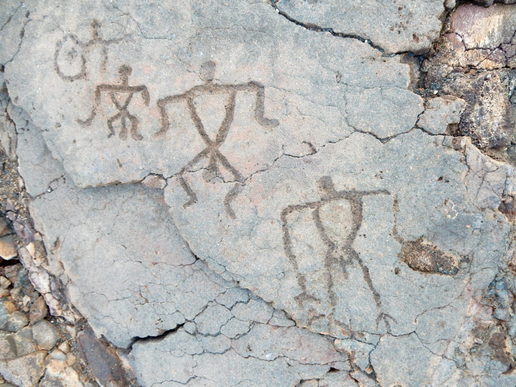
[[466, 102], [453, 95], [430, 99], [417, 125], [432, 134], [445, 134], [448, 125], [458, 124]]

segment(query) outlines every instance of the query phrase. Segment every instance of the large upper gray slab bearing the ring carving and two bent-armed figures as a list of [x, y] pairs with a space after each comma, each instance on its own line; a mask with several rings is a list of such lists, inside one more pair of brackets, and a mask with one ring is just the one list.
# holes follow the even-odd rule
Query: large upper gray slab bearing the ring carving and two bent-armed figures
[[[329, 140], [349, 135], [352, 129], [345, 123], [344, 104], [334, 103], [344, 101], [348, 85], [398, 88], [393, 94], [405, 95], [402, 89], [410, 82], [409, 66], [400, 63], [399, 58], [381, 57], [377, 50], [356, 39], [314, 34], [287, 21], [265, 3], [235, 8], [216, 3], [202, 7], [178, 3], [172, 12], [180, 12], [179, 20], [185, 24], [173, 28], [178, 39], [170, 42], [172, 46], [147, 39], [163, 36], [165, 31], [157, 28], [159, 23], [141, 35], [137, 22], [155, 13], [152, 6], [143, 12], [138, 10], [135, 19], [124, 16], [119, 23], [119, 9], [130, 14], [135, 5], [123, 2], [100, 10], [100, 5], [85, 7], [79, 1], [61, 8], [51, 4], [31, 7], [31, 17], [38, 22], [26, 26], [20, 51], [6, 66], [5, 76], [11, 99], [30, 111], [34, 124], [43, 128], [53, 156], [62, 161], [69, 177], [81, 187], [140, 181], [151, 172], [168, 178], [190, 168], [188, 163], [206, 144], [191, 121], [186, 103], [170, 103], [167, 98], [207, 82], [198, 75], [207, 60], [216, 63], [214, 82], [227, 85], [227, 90], [257, 83], [249, 86], [251, 89], [241, 86], [237, 92], [232, 130], [221, 147], [222, 154], [243, 176], [270, 166], [283, 149], [307, 154], [312, 152], [311, 147], [319, 148]], [[225, 13], [220, 13], [221, 9]], [[77, 13], [84, 21], [67, 17]], [[91, 24], [98, 14], [103, 15], [102, 20]], [[48, 15], [59, 17], [61, 28]], [[225, 28], [227, 18], [233, 19], [234, 26], [229, 29]], [[199, 24], [192, 25], [188, 20]], [[253, 33], [241, 34], [240, 25], [254, 28]], [[269, 34], [272, 29], [277, 31], [276, 36]], [[99, 40], [92, 40], [95, 34]], [[278, 38], [283, 42], [281, 47], [276, 44]], [[35, 39], [38, 45], [30, 43]], [[132, 39], [136, 39], [134, 44]], [[327, 48], [320, 51], [320, 46]], [[141, 66], [132, 53], [136, 47], [141, 50], [138, 57], [146, 62]], [[38, 67], [22, 64], [35, 60]], [[117, 85], [122, 65], [133, 67], [127, 74], [128, 86], [142, 86], [133, 95], [130, 107], [130, 114], [138, 120], [138, 133], [129, 133], [126, 140], [120, 138], [121, 121], [115, 118], [116, 133], [108, 137], [107, 122], [115, 117], [115, 111], [109, 86], [100, 86]], [[30, 76], [25, 73], [28, 69]], [[169, 74], [178, 74], [181, 81], [171, 81]], [[314, 78], [313, 74], [319, 75]], [[22, 78], [34, 79], [37, 85], [20, 82]], [[259, 84], [264, 88], [253, 86]], [[102, 94], [97, 100], [95, 90]], [[264, 93], [263, 106], [256, 110], [253, 106], [260, 90]], [[162, 102], [158, 105], [158, 101]], [[218, 105], [213, 103], [199, 96], [196, 105], [204, 126], [212, 132], [218, 129], [223, 114], [223, 110], [214, 114]], [[199, 104], [204, 104], [205, 111]], [[255, 114], [264, 119], [255, 120]], [[296, 131], [291, 130], [294, 126]], [[245, 162], [237, 156], [240, 152], [246, 154]]]

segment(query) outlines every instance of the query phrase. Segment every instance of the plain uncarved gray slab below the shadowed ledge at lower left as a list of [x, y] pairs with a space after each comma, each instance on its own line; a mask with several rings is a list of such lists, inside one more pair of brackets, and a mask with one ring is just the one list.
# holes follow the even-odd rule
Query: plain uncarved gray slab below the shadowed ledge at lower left
[[[225, 291], [174, 231], [162, 200], [139, 184], [63, 185], [33, 203], [47, 249], [66, 269], [70, 300], [119, 346], [195, 318]], [[119, 276], [127, 280], [113, 281]]]

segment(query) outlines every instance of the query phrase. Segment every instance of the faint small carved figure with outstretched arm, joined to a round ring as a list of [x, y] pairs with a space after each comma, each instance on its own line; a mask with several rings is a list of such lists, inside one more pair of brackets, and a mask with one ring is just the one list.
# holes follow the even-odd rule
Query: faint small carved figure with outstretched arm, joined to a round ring
[[99, 34], [101, 24], [94, 20], [91, 22], [91, 39], [86, 43], [81, 42], [73, 34], [65, 37], [56, 43], [54, 53], [54, 68], [56, 73], [64, 80], [73, 82], [74, 80], [86, 78], [88, 73], [88, 57], [93, 47], [102, 47], [101, 71], [105, 71], [107, 63], [107, 46], [118, 43], [119, 39], [102, 39]]

